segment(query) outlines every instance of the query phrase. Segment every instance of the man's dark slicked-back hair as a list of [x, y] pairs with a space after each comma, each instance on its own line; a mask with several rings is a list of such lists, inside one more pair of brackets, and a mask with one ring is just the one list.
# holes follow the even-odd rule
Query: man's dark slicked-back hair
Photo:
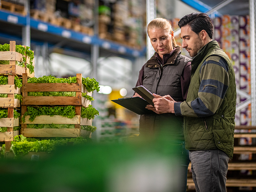
[[191, 13], [188, 15], [185, 15], [181, 18], [181, 20], [178, 22], [178, 26], [184, 27], [184, 26], [190, 26], [191, 30], [198, 34], [202, 30], [205, 30], [209, 37], [213, 38], [213, 24], [210, 19], [210, 17], [207, 14], [204, 13]]

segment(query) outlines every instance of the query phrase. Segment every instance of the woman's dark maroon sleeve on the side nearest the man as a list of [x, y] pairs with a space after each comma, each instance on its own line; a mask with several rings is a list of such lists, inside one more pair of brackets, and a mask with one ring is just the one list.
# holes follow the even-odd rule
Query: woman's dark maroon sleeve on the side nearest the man
[[191, 78], [191, 62], [187, 62], [181, 74], [181, 91], [182, 91], [182, 98], [184, 101], [186, 101], [186, 98], [187, 98], [188, 87], [190, 85], [190, 78]]

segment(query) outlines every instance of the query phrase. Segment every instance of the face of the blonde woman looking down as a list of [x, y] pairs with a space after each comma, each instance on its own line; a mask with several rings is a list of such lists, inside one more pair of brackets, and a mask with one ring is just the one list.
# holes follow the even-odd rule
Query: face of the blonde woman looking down
[[162, 58], [164, 54], [170, 53], [172, 48], [173, 31], [168, 31], [161, 28], [153, 28], [148, 32], [150, 42], [156, 53]]

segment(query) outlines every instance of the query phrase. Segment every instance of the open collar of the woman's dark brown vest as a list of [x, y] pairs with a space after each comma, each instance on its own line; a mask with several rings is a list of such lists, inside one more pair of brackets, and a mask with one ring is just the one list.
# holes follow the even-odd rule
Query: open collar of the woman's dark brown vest
[[[166, 63], [163, 64], [164, 65], [170, 65], [170, 64], [174, 64], [176, 58], [178, 57], [178, 55], [181, 54], [181, 48], [180, 47], [175, 47], [176, 49], [174, 50], [174, 52], [172, 52], [172, 54], [169, 55], [169, 58], [167, 59]], [[161, 65], [158, 62], [158, 59], [156, 58], [156, 53], [146, 62], [146, 67], [149, 68], [158, 68], [161, 67]], [[169, 53], [165, 54], [165, 56], [167, 56]]]

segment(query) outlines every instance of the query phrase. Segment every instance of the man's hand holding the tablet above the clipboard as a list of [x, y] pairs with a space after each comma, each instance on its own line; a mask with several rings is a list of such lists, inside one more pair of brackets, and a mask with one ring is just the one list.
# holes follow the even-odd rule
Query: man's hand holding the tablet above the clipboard
[[161, 113], [174, 113], [174, 99], [170, 95], [160, 96], [153, 94], [154, 107], [152, 105], [147, 105], [146, 108], [155, 111], [158, 114]]

